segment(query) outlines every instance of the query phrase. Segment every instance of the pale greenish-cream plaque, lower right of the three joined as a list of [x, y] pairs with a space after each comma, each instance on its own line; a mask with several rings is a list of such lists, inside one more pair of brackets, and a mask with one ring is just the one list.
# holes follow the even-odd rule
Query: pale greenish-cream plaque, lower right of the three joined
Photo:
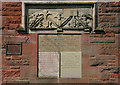
[[81, 52], [61, 53], [61, 78], [81, 78]]

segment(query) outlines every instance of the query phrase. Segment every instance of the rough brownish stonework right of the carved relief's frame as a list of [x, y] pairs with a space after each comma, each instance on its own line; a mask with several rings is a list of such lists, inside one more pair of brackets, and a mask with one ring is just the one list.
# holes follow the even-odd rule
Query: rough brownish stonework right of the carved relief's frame
[[98, 23], [107, 33], [120, 33], [120, 2], [99, 2]]

